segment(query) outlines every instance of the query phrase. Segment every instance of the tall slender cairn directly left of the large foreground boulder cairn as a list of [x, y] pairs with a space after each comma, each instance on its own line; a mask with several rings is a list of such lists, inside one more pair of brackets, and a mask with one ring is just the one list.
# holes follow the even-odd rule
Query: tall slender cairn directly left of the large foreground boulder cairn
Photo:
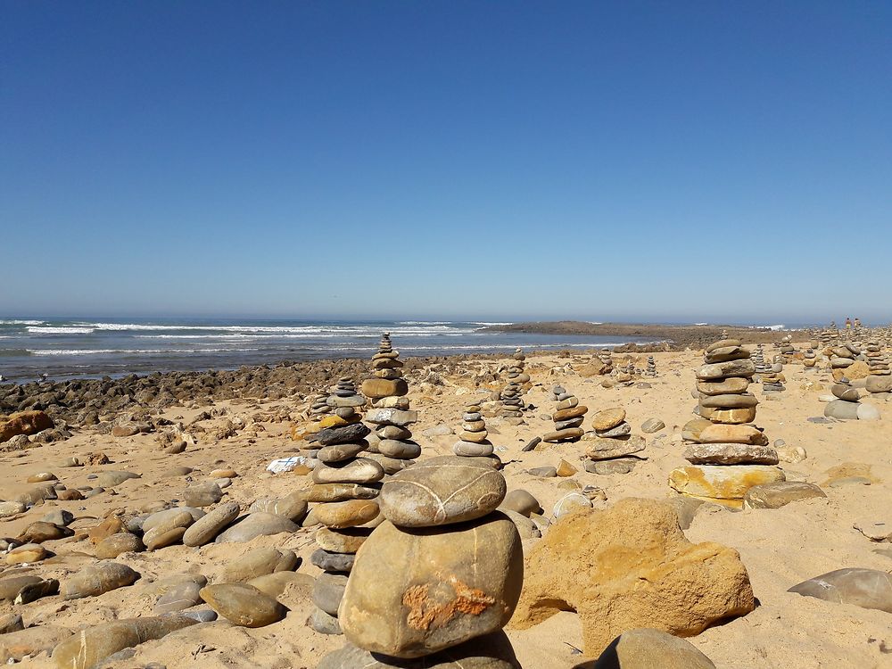
[[371, 432], [357, 411], [365, 403], [352, 380], [341, 378], [328, 398], [335, 415], [325, 419], [335, 425], [307, 437], [318, 449], [318, 464], [310, 472], [313, 484], [307, 491], [307, 501], [314, 506], [304, 525], [322, 525], [316, 533], [318, 549], [310, 562], [323, 570], [313, 588], [317, 608], [308, 624], [324, 634], [341, 633], [337, 607], [353, 556], [378, 516], [376, 498], [384, 468], [375, 460], [361, 457], [368, 449], [366, 437]]

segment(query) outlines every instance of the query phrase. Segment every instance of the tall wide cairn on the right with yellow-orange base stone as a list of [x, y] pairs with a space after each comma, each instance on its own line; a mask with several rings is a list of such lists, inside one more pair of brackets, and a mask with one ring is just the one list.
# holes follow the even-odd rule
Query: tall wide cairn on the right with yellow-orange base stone
[[739, 340], [724, 339], [706, 348], [697, 370], [699, 417], [684, 425], [689, 467], [669, 475], [681, 494], [742, 508], [751, 487], [785, 481], [776, 467], [777, 451], [768, 446], [756, 420], [756, 397], [747, 392], [756, 366]]

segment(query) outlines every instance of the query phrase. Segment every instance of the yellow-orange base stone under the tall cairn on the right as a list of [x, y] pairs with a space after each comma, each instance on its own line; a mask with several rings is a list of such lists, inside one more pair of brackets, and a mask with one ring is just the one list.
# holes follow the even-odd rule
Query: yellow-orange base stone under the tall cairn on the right
[[754, 485], [784, 480], [783, 470], [770, 465], [691, 465], [669, 474], [669, 485], [682, 494], [737, 507]]

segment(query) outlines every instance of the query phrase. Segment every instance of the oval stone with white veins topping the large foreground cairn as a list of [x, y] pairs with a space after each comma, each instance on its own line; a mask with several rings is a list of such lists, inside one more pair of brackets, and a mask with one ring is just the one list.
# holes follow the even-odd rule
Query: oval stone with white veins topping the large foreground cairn
[[505, 499], [505, 477], [467, 458], [443, 456], [419, 462], [384, 483], [384, 517], [401, 527], [432, 527], [474, 520]]

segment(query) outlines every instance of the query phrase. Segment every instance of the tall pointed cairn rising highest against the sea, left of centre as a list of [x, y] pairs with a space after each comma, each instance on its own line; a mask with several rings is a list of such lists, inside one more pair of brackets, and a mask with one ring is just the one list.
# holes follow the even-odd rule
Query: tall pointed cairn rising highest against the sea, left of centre
[[[417, 411], [409, 410], [409, 384], [402, 377], [399, 351], [393, 351], [388, 333], [381, 336], [378, 352], [372, 356], [373, 378], [362, 382], [362, 393], [372, 402], [366, 421], [375, 426], [369, 438], [369, 458], [384, 467], [387, 474], [411, 466], [421, 455], [421, 445], [412, 440], [409, 425], [417, 422]], [[387, 410], [378, 410], [387, 409]]]

